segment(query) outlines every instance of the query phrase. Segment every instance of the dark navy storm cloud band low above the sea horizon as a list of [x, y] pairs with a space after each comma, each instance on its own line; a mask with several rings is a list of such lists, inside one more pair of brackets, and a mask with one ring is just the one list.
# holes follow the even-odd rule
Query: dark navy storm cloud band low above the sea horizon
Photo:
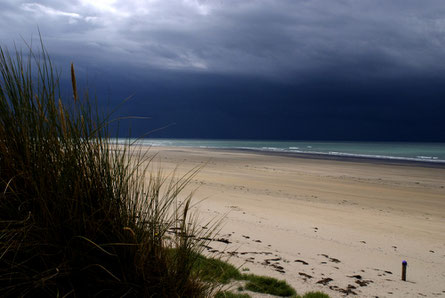
[[[298, 85], [195, 73], [170, 84], [145, 82], [122, 115], [149, 115], [120, 126], [152, 137], [356, 141], [445, 141], [445, 85], [431, 78], [351, 84], [313, 79]], [[185, 82], [184, 82], [185, 81]], [[192, 81], [192, 83], [191, 83]], [[200, 82], [195, 84], [194, 81]], [[111, 86], [119, 82], [112, 79]], [[117, 102], [128, 93], [114, 94]], [[141, 100], [139, 100], [141, 99]]]

